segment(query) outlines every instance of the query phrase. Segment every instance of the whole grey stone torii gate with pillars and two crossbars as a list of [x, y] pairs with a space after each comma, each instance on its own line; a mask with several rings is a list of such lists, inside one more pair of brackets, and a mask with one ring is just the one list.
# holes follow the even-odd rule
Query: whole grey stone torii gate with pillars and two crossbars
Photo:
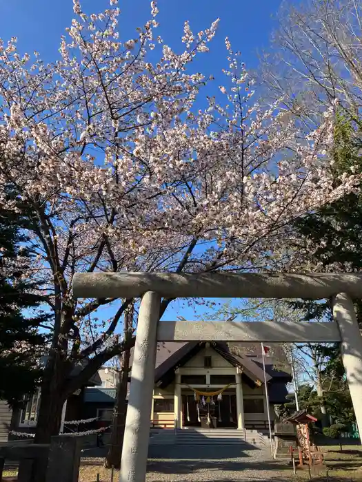
[[[157, 341], [341, 342], [362, 433], [362, 337], [352, 303], [362, 298], [362, 274], [77, 273], [72, 291], [77, 298], [142, 297], [119, 482], [145, 481]], [[332, 298], [334, 322], [159, 322], [161, 297]]]

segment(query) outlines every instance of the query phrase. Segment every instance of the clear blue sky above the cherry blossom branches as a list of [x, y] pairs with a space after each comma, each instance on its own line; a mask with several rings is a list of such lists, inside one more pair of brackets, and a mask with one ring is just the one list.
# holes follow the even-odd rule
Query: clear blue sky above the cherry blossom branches
[[[281, 0], [159, 0], [158, 21], [165, 43], [172, 48], [181, 48], [183, 22], [190, 21], [194, 32], [207, 28], [218, 17], [221, 19], [217, 36], [210, 45], [210, 52], [202, 54], [197, 61], [197, 70], [209, 76], [223, 78], [221, 69], [225, 64], [225, 36], [229, 36], [234, 50], [241, 51], [246, 67], [257, 67], [257, 51], [268, 48], [269, 36]], [[108, 8], [108, 0], [83, 0], [87, 13], [101, 12]], [[122, 15], [119, 21], [120, 38], [124, 41], [134, 36], [134, 30], [150, 18], [149, 0], [121, 0]], [[40, 52], [46, 62], [59, 57], [59, 39], [65, 33], [74, 16], [72, 0], [3, 0], [0, 2], [0, 36], [7, 41], [18, 37], [20, 52]], [[219, 85], [218, 84], [218, 85]], [[202, 312], [202, 308], [197, 308]], [[110, 316], [112, 310], [103, 311]], [[163, 319], [174, 319], [178, 314], [194, 318], [194, 310], [177, 300], [172, 303]]]

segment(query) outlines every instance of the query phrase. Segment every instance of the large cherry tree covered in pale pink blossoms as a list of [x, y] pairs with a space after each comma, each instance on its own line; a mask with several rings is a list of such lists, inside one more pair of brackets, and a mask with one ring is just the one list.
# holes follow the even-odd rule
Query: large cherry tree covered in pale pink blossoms
[[[333, 186], [334, 106], [306, 138], [279, 103], [252, 104], [228, 39], [225, 81], [198, 109], [212, 79], [188, 66], [208, 52], [218, 21], [197, 34], [185, 22], [176, 53], [157, 35], [155, 1], [125, 41], [116, 1], [90, 15], [73, 3], [59, 61], [21, 56], [16, 39], [0, 45], [0, 200], [30, 220], [38, 256], [27, 275], [46, 277], [54, 314], [37, 443], [57, 434], [66, 398], [132, 344], [117, 335], [132, 300], [75, 301], [75, 272], [270, 269], [292, 222], [358, 177]], [[114, 316], [99, 320], [110, 304]], [[83, 368], [70, 377], [74, 364]]]

